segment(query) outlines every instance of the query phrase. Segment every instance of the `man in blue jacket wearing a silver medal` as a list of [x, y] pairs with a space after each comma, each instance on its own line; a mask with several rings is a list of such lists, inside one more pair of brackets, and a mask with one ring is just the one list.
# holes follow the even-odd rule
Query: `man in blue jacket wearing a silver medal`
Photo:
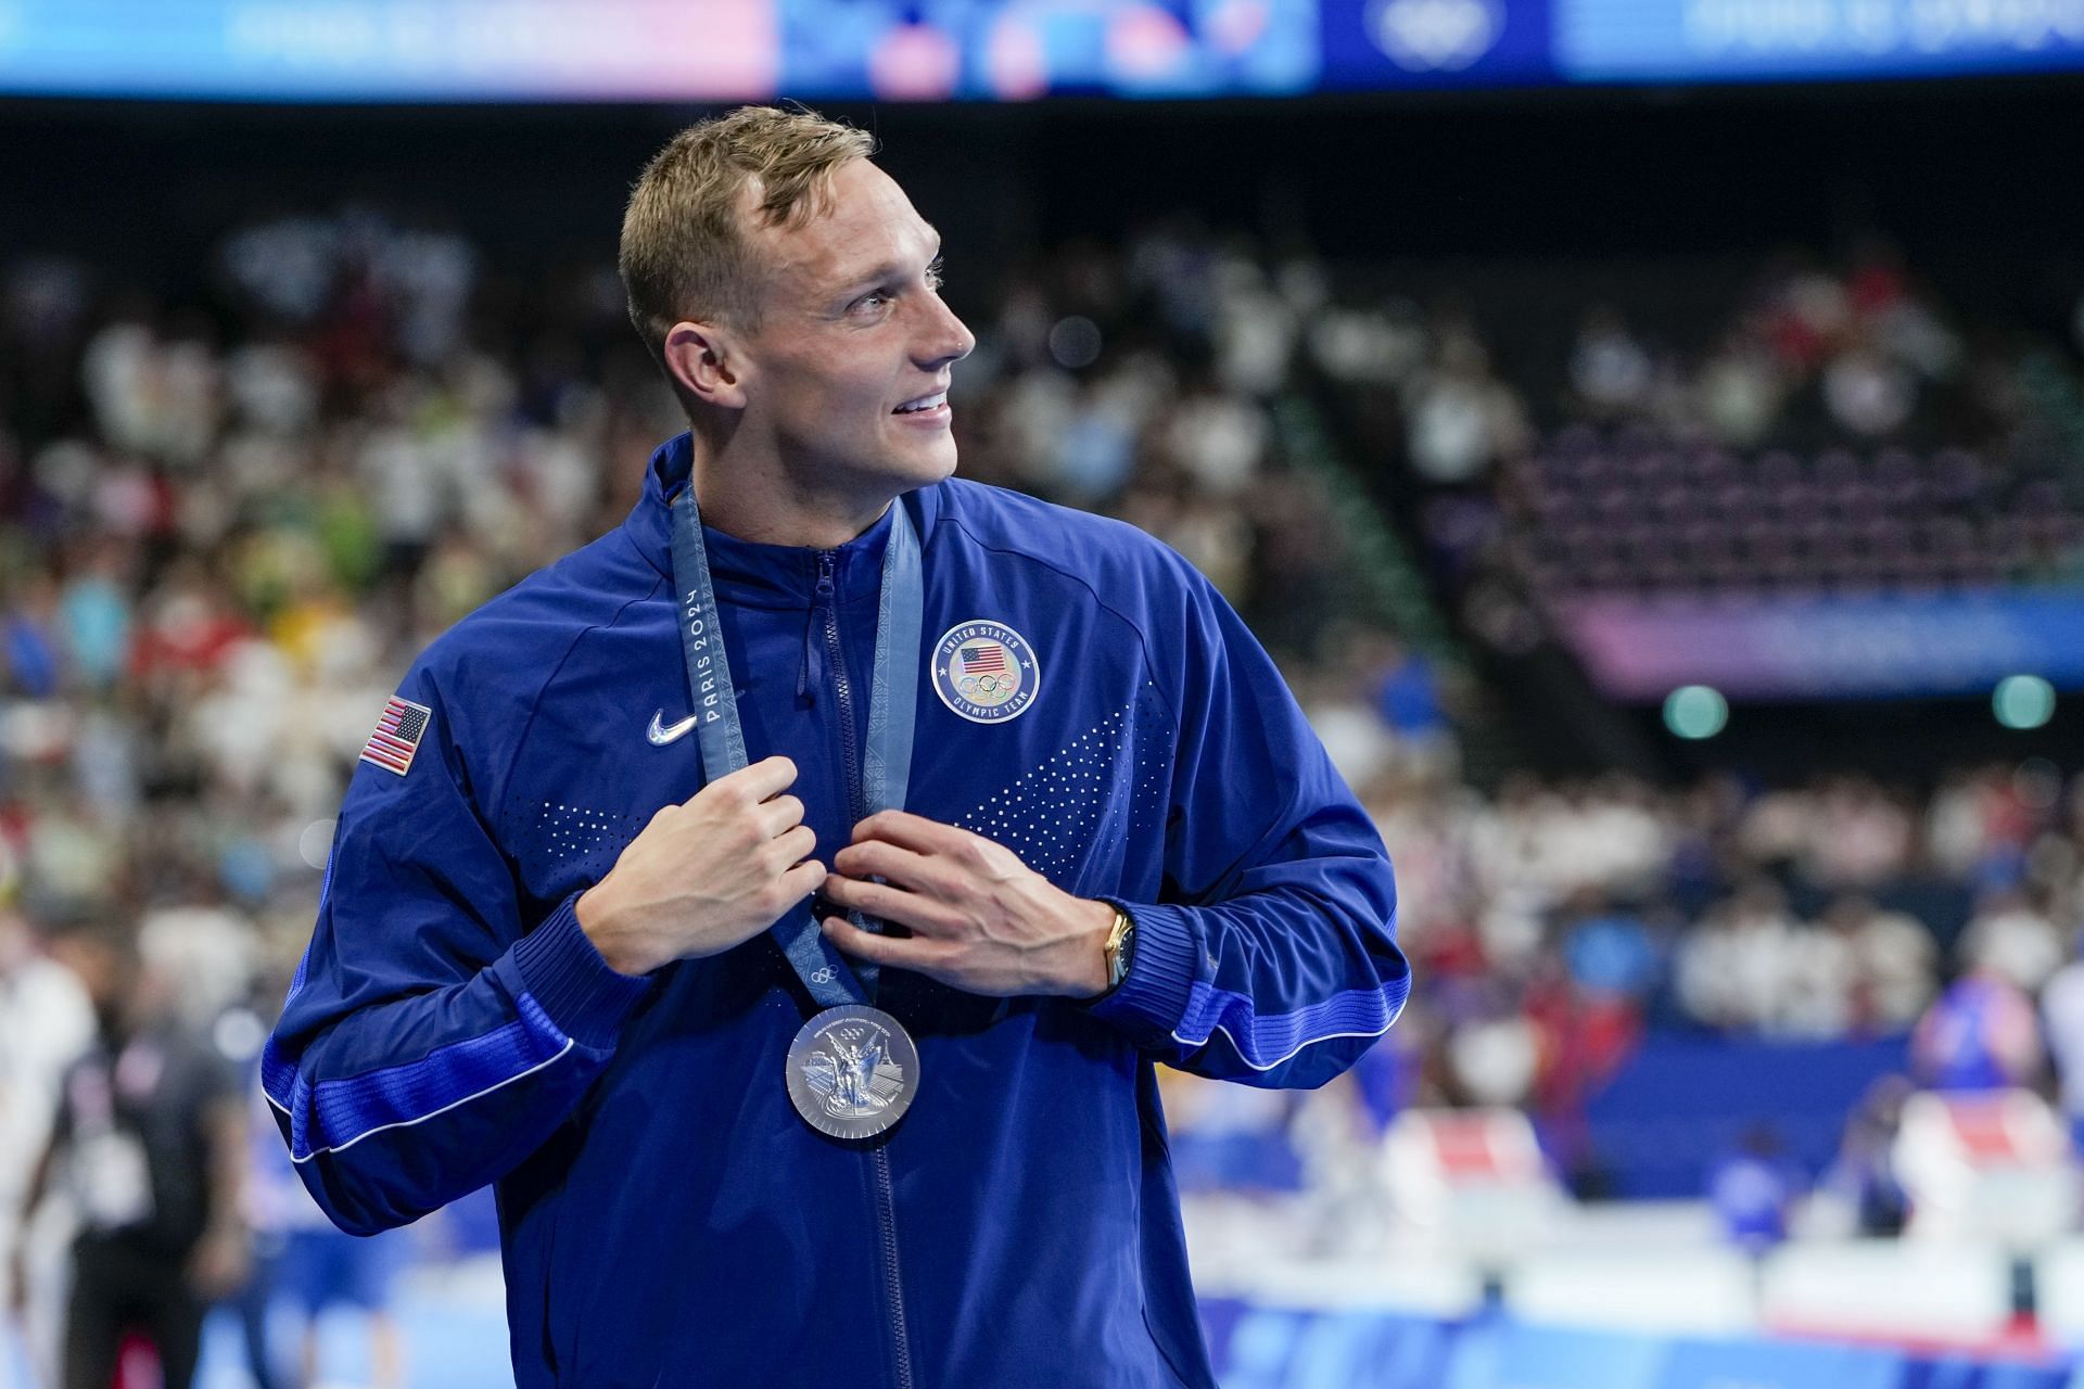
[[1409, 987], [1213, 589], [948, 481], [973, 337], [869, 152], [646, 169], [692, 431], [406, 677], [267, 1062], [348, 1229], [498, 1183], [521, 1389], [1209, 1385], [1152, 1060], [1317, 1085]]

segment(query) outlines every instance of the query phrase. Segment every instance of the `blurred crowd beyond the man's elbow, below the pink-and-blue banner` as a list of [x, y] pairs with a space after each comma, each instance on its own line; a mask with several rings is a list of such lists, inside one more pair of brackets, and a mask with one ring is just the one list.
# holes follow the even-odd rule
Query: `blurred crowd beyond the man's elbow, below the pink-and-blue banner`
[[[1369, 795], [1425, 987], [1398, 1025], [1415, 1097], [1557, 1120], [1644, 1029], [1780, 1039], [1917, 1035], [1919, 1079], [2084, 1081], [2065, 997], [2084, 923], [2084, 781], [1980, 766], [1930, 795], [1830, 777], [1432, 781]], [[1953, 1035], [1961, 997], [1996, 1031]], [[1944, 1035], [1942, 1035], [1944, 1033]], [[2084, 1108], [2078, 1110], [2084, 1118]]]

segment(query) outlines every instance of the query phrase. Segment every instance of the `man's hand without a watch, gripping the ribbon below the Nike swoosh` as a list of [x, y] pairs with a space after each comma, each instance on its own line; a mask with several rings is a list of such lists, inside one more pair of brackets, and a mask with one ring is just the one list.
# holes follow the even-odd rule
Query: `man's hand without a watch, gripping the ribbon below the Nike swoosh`
[[609, 877], [579, 895], [579, 929], [621, 975], [748, 941], [825, 881], [796, 764], [767, 758], [650, 818]]

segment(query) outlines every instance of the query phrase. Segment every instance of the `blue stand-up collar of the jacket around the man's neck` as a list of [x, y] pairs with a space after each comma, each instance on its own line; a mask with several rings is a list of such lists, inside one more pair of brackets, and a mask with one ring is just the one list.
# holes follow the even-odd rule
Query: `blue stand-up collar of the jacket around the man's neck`
[[[644, 469], [644, 496], [623, 523], [629, 539], [661, 575], [673, 577], [673, 500], [694, 471], [694, 439], [686, 433], [661, 444]], [[913, 525], [925, 541], [934, 514], [934, 487], [921, 487], [898, 500], [913, 514]], [[759, 546], [704, 525], [702, 544], [709, 550], [709, 571], [717, 598], [754, 608], [809, 608], [817, 596], [823, 558], [832, 558], [834, 589], [842, 602], [859, 602], [882, 589], [884, 546], [890, 539], [890, 512], [838, 550], [802, 546]]]

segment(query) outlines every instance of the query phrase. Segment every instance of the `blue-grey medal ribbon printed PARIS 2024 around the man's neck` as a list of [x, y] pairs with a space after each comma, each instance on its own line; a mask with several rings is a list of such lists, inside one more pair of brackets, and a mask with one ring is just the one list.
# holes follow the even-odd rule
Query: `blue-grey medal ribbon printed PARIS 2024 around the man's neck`
[[[890, 539], [884, 544], [869, 735], [861, 758], [861, 795], [869, 814], [904, 806], [911, 785], [913, 716], [919, 702], [919, 623], [925, 606], [919, 535], [902, 498], [890, 508], [896, 514], [890, 519]], [[702, 544], [702, 516], [694, 506], [692, 477], [673, 502], [673, 585], [679, 589], [679, 646], [688, 658], [688, 696], [694, 700], [706, 783], [746, 766], [746, 731], [738, 718], [723, 627], [717, 623], [717, 585], [709, 577], [709, 548]], [[854, 925], [867, 925], [859, 914], [850, 916]], [[875, 966], [863, 964], [857, 975], [819, 931], [809, 904], [792, 908], [769, 931], [819, 1008], [865, 1004], [875, 997]]]

